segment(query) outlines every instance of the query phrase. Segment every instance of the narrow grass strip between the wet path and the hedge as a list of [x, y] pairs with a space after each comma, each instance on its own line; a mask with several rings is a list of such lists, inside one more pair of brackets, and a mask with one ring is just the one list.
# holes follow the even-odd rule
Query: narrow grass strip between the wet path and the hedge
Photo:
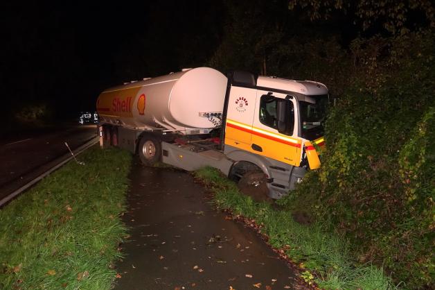
[[221, 210], [254, 219], [261, 232], [269, 237], [269, 244], [285, 250], [285, 254], [301, 268], [301, 277], [316, 282], [324, 289], [399, 289], [382, 268], [371, 264], [359, 265], [350, 253], [346, 240], [330, 233], [328, 223], [301, 225], [292, 212], [280, 210], [270, 203], [257, 203], [240, 194], [235, 183], [212, 168], [194, 173], [195, 177], [214, 192], [214, 203]]

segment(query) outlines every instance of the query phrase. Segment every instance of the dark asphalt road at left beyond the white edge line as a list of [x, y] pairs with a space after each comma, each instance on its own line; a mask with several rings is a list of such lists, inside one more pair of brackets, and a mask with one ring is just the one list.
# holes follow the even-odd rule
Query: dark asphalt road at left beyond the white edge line
[[96, 125], [46, 128], [0, 140], [0, 199], [25, 185], [69, 153], [96, 137]]

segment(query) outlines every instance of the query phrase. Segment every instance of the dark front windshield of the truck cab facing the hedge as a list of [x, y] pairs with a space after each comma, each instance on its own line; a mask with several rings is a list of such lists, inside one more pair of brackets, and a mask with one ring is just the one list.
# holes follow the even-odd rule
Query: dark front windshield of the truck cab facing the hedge
[[299, 101], [301, 137], [314, 140], [323, 136], [323, 122], [328, 108], [328, 95], [314, 96], [315, 103]]

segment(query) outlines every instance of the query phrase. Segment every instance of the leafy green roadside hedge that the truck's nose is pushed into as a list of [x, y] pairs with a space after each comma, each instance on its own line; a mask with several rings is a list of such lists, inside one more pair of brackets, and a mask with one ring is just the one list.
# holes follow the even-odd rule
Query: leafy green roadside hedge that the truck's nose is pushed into
[[330, 221], [405, 288], [433, 288], [434, 32], [351, 47], [361, 65], [330, 109], [322, 167], [281, 203]]

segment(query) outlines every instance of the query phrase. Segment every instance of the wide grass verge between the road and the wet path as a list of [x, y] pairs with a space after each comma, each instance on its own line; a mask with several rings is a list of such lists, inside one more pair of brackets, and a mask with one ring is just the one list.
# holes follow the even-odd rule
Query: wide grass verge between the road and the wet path
[[110, 289], [131, 155], [93, 147], [0, 211], [0, 289]]

